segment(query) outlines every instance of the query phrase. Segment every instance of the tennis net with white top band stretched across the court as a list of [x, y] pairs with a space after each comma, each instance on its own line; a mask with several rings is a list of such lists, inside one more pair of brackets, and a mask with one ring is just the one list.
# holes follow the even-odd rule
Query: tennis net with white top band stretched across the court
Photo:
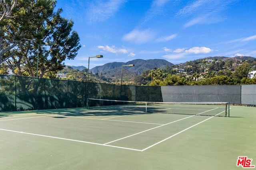
[[88, 109], [130, 111], [131, 113], [172, 113], [229, 117], [228, 102], [140, 102], [107, 99], [87, 99]]

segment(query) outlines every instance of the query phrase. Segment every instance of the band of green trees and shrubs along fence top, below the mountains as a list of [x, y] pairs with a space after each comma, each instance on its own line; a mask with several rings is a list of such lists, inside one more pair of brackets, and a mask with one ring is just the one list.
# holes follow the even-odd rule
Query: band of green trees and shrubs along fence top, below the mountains
[[[202, 60], [202, 61], [191, 61], [186, 63], [186, 67], [190, 67], [190, 64], [197, 65], [199, 69], [204, 69], [208, 70], [208, 68], [204, 64], [207, 62]], [[229, 64], [225, 64], [222, 61], [218, 62], [215, 61], [214, 63], [220, 63], [219, 66], [222, 66], [224, 68], [224, 65], [231, 66]], [[240, 63], [240, 62], [238, 62]], [[250, 79], [247, 78], [247, 71], [249, 68], [252, 68], [254, 66], [254, 62], [250, 62], [248, 64], [247, 62], [240, 63], [240, 65], [236, 66], [235, 71], [231, 71], [228, 68], [219, 70], [219, 71], [208, 71], [208, 72], [199, 72], [197, 73], [196, 70], [195, 72], [177, 72], [177, 69], [174, 67], [170, 68], [169, 66], [166, 66], [163, 69], [160, 68], [155, 68], [153, 70], [146, 70], [142, 72], [142, 74], [139, 74], [137, 76], [134, 76], [132, 80], [130, 80], [129, 72], [128, 70], [126, 71], [125, 76], [123, 78], [126, 79], [124, 81], [124, 84], [131, 84], [132, 85], [150, 85], [150, 86], [171, 86], [171, 85], [233, 85], [233, 84], [256, 84], [255, 83], [255, 78]], [[218, 64], [217, 64], [218, 65]], [[183, 68], [181, 64], [177, 65], [180, 68]], [[232, 64], [232, 67], [234, 64]], [[84, 69], [84, 75], [82, 73], [79, 73], [79, 70], [73, 69], [72, 67], [68, 66], [61, 72], [67, 73], [68, 80], [81, 80], [84, 81], [86, 80], [87, 76], [87, 69]], [[243, 72], [243, 73], [242, 73]], [[239, 79], [239, 75], [246, 76], [243, 77], [242, 79]], [[114, 83], [118, 84], [120, 81], [113, 80], [111, 78], [105, 77], [102, 72], [96, 72], [95, 74], [90, 73], [90, 82], [108, 82], [108, 83]]]

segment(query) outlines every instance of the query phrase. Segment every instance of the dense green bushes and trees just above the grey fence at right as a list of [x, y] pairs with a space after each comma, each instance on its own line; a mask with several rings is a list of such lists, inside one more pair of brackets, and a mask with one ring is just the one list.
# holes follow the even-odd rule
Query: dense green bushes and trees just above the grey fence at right
[[[196, 61], [190, 61], [186, 63], [186, 70], [189, 71], [187, 74], [192, 74], [190, 77], [185, 78], [182, 75], [186, 74], [166, 74], [166, 72], [161, 72], [161, 70], [150, 70], [148, 76], [152, 76], [153, 80], [150, 82], [150, 86], [170, 86], [170, 85], [233, 85], [233, 84], [256, 84], [256, 78], [248, 78], [248, 71], [252, 66], [254, 66], [254, 62], [243, 62], [239, 64], [234, 72], [231, 70], [223, 70], [225, 66], [231, 67], [233, 65], [233, 61], [226, 64], [224, 61], [214, 61], [208, 67], [210, 70], [207, 74], [202, 75], [198, 74], [198, 69], [200, 63]], [[202, 64], [202, 63], [201, 63]], [[222, 69], [220, 71], [217, 71]], [[170, 70], [169, 70], [170, 72]], [[201, 71], [200, 71], [201, 72]], [[165, 75], [160, 77], [161, 75]], [[160, 77], [160, 78], [158, 78]]]

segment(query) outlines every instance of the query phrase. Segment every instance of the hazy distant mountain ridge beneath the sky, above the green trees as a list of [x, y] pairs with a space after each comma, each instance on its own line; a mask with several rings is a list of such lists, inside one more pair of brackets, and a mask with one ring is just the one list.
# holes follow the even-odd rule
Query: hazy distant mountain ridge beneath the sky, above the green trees
[[[222, 60], [222, 61], [233, 61], [234, 63], [248, 61], [249, 63], [255, 63], [256, 58], [254, 57], [248, 57], [248, 56], [239, 56], [239, 57], [206, 57], [202, 59], [195, 60], [198, 63], [201, 63], [201, 61], [204, 60]], [[192, 61], [190, 61], [192, 62]], [[134, 64], [134, 66], [128, 66], [129, 64]], [[104, 81], [107, 82], [119, 82], [121, 79], [121, 73], [122, 73], [122, 65], [125, 65], [123, 67], [123, 80], [125, 81], [132, 81], [134, 78], [140, 74], [142, 74], [145, 71], [156, 69], [156, 68], [166, 68], [166, 66], [171, 68], [184, 68], [184, 66], [187, 66], [189, 63], [180, 63], [180, 64], [172, 64], [166, 60], [163, 59], [149, 59], [149, 60], [143, 60], [143, 59], [135, 59], [132, 61], [128, 61], [126, 63], [124, 62], [112, 62], [107, 63], [102, 66], [96, 66], [94, 68], [91, 68], [90, 71], [96, 75], [98, 78], [104, 79]], [[67, 66], [70, 67], [70, 66]], [[84, 66], [71, 66], [73, 69], [78, 70], [84, 70], [86, 67]]]

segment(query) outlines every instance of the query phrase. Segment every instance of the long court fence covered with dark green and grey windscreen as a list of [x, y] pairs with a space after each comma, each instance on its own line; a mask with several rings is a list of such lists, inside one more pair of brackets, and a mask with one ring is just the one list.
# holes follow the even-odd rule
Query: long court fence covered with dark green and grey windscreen
[[0, 75], [0, 111], [85, 107], [87, 98], [256, 105], [256, 85], [120, 86]]

